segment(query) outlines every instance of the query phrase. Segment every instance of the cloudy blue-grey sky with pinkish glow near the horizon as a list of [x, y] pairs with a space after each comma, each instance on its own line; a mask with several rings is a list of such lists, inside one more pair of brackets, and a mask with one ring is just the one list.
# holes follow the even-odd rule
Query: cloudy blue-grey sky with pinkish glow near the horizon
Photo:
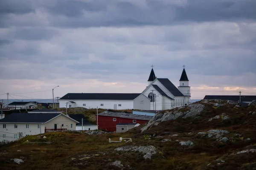
[[140, 93], [152, 64], [192, 99], [256, 95], [256, 1], [0, 0], [0, 95]]

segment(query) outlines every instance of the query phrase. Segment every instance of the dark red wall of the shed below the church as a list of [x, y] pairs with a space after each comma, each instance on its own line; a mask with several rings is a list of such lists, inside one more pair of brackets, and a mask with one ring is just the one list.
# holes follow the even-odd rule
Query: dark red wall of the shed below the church
[[[113, 118], [116, 118], [116, 121], [113, 121]], [[133, 120], [136, 120], [136, 123], [143, 125], [148, 122], [148, 120], [128, 119], [128, 118], [100, 116], [100, 115], [98, 115], [98, 119], [99, 119], [98, 120], [98, 125], [99, 125], [98, 129], [108, 130], [111, 132], [116, 131], [116, 125], [118, 123], [133, 123]]]

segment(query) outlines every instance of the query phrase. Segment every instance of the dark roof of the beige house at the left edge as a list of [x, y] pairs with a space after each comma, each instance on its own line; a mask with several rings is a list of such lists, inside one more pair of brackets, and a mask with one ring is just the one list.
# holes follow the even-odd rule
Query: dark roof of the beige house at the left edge
[[12, 113], [0, 120], [6, 123], [45, 123], [61, 113]]

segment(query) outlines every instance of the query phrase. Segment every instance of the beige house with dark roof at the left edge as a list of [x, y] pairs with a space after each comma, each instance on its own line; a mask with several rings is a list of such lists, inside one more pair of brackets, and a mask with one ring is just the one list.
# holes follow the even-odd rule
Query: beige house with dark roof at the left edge
[[76, 130], [76, 120], [62, 113], [12, 113], [0, 120], [0, 141], [49, 131]]

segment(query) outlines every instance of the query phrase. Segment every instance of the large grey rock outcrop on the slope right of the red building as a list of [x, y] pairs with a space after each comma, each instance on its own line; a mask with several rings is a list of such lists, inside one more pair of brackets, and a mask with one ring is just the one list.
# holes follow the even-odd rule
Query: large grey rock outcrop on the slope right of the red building
[[202, 104], [191, 104], [186, 107], [180, 107], [166, 111], [165, 113], [156, 114], [143, 128], [141, 131], [150, 129], [152, 126], [157, 126], [160, 122], [167, 120], [175, 120], [178, 117], [188, 118], [200, 115], [206, 107]]

